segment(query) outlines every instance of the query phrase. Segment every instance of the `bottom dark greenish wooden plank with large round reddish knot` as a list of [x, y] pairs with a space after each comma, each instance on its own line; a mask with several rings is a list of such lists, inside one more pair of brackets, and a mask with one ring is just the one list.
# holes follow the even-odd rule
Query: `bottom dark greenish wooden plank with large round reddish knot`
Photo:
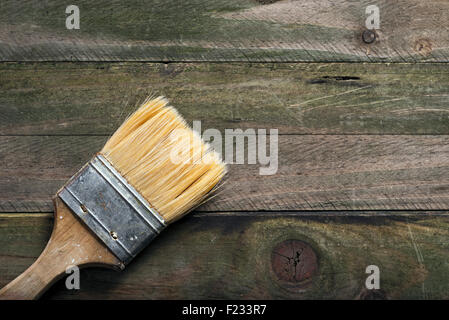
[[[48, 216], [0, 215], [0, 286], [26, 269], [50, 236]], [[81, 289], [59, 281], [44, 299], [448, 299], [449, 218], [210, 217], [170, 226], [123, 272], [81, 270]], [[315, 272], [285, 278], [279, 243], [306, 243]], [[311, 256], [299, 255], [308, 269]], [[274, 261], [273, 261], [274, 260]], [[295, 270], [287, 259], [286, 274]], [[365, 289], [368, 265], [380, 290]], [[299, 268], [299, 267], [298, 267]], [[299, 269], [298, 269], [299, 270]]]

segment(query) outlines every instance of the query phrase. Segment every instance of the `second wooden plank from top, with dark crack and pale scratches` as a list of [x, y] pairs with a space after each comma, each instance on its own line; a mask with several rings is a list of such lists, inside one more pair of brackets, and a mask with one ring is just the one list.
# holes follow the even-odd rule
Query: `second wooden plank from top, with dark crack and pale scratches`
[[3, 63], [0, 134], [109, 135], [148, 94], [203, 129], [449, 134], [444, 64]]

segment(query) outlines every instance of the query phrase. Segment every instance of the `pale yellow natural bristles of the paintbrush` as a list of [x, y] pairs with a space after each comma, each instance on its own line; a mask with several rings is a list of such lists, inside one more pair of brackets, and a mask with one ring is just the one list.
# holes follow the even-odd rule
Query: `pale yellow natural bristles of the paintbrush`
[[101, 153], [170, 223], [205, 199], [226, 166], [167, 104], [146, 101]]

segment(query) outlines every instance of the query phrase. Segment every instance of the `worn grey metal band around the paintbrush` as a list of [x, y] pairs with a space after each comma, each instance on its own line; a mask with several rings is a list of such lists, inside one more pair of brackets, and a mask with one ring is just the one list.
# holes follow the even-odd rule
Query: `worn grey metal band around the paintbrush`
[[166, 227], [159, 213], [101, 154], [58, 196], [125, 265]]

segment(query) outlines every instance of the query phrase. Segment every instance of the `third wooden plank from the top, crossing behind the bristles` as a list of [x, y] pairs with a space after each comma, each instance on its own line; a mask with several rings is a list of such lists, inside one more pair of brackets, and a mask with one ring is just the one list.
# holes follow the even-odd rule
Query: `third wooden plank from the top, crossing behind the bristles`
[[[0, 137], [0, 211], [51, 212], [52, 195], [106, 139]], [[449, 209], [447, 135], [279, 136], [276, 174], [230, 167], [200, 211]]]

